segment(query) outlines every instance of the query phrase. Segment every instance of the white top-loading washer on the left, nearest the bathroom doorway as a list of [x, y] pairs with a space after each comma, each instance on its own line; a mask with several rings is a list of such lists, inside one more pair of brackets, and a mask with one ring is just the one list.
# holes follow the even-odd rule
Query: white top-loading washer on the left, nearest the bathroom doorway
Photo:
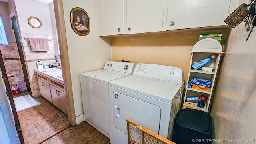
[[103, 70], [80, 74], [84, 121], [109, 138], [108, 83], [132, 74], [135, 64], [106, 61]]

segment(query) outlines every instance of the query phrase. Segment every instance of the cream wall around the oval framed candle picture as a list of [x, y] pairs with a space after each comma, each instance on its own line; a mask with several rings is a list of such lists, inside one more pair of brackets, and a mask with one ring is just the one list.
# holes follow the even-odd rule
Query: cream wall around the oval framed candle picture
[[[76, 8], [77, 6], [83, 8], [90, 17], [90, 32], [86, 36], [79, 36], [71, 28], [70, 11], [72, 8]], [[106, 60], [111, 60], [110, 38], [99, 37], [97, 7], [96, 0], [63, 1], [69, 58], [67, 63], [70, 64], [72, 93], [77, 124], [84, 121], [84, 117], [82, 115], [84, 112], [82, 105], [80, 73], [103, 69]]]

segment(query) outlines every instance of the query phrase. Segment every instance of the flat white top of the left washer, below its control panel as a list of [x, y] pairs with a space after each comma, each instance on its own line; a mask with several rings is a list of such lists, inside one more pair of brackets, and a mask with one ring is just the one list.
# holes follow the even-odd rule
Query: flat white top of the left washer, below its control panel
[[110, 80], [115, 80], [130, 74], [125, 72], [116, 72], [113, 70], [97, 70], [92, 72], [85, 72], [80, 74], [80, 76], [85, 78], [90, 78], [92, 80], [97, 80], [100, 82], [108, 83]]

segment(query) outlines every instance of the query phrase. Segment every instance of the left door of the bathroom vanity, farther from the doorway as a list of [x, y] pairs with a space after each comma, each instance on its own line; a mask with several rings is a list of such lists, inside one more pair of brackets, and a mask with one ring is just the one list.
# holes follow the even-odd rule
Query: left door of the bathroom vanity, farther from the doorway
[[50, 85], [39, 78], [38, 80], [38, 86], [40, 90], [40, 94], [42, 97], [44, 97], [46, 100], [48, 100], [50, 103], [52, 103], [52, 95], [50, 92]]

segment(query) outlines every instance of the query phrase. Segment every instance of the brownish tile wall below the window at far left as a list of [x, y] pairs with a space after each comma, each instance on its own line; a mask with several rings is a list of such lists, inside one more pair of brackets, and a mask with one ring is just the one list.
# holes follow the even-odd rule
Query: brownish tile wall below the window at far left
[[16, 42], [9, 42], [8, 46], [0, 44], [0, 50], [6, 73], [15, 75], [8, 78], [10, 86], [16, 84], [20, 91], [27, 90]]

